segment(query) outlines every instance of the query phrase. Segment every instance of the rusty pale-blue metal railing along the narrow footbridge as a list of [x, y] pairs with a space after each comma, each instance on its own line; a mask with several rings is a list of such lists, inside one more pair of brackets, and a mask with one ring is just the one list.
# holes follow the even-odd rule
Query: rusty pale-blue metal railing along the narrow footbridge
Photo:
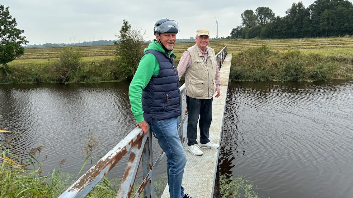
[[[222, 65], [225, 56], [227, 55], [227, 46], [224, 47], [216, 55], [216, 60], [219, 67]], [[185, 83], [179, 88], [180, 93], [185, 92]], [[185, 111], [186, 107], [181, 102], [180, 105], [182, 112]], [[187, 113], [181, 114], [179, 117], [178, 133], [183, 146], [186, 145], [186, 128], [187, 128]], [[124, 139], [122, 139], [112, 150], [110, 150], [104, 157], [102, 157], [95, 165], [93, 165], [87, 172], [85, 172], [75, 183], [73, 183], [65, 192], [63, 192], [59, 198], [79, 198], [85, 197], [119, 162], [119, 160], [130, 151], [130, 157], [128, 159], [124, 175], [121, 179], [120, 188], [117, 194], [117, 198], [131, 197], [137, 171], [142, 160], [142, 174], [143, 181], [133, 194], [133, 198], [137, 198], [144, 193], [145, 198], [154, 198], [154, 178], [153, 173], [156, 170], [159, 162], [164, 157], [164, 152], [158, 156], [156, 161], [153, 163], [152, 155], [152, 133], [149, 128], [147, 135], [143, 136], [143, 131], [140, 128], [135, 128], [130, 132]]]

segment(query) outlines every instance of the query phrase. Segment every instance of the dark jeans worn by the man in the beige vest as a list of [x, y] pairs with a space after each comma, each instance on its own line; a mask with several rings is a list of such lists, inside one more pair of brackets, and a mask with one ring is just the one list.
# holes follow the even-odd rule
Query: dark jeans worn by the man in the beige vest
[[197, 121], [200, 116], [200, 143], [205, 144], [210, 142], [210, 126], [212, 121], [212, 101], [211, 99], [196, 99], [186, 96], [187, 106], [187, 145], [197, 144]]

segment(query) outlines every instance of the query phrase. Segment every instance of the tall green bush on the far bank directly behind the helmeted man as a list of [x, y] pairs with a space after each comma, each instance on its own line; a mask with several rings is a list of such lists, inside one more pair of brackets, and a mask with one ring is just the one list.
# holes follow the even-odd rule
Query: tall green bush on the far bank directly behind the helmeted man
[[120, 42], [114, 42], [115, 55], [120, 64], [122, 75], [126, 79], [132, 79], [137, 70], [140, 59], [143, 56], [143, 36], [141, 30], [133, 29], [128, 21], [123, 21], [120, 34], [115, 35]]

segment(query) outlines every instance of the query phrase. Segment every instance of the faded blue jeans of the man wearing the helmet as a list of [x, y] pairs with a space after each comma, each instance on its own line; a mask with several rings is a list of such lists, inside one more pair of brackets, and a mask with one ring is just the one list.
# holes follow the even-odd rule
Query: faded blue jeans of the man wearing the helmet
[[183, 198], [184, 167], [186, 165], [186, 154], [178, 135], [179, 118], [172, 117], [165, 120], [152, 119], [150, 126], [159, 146], [167, 155], [167, 175], [170, 198]]

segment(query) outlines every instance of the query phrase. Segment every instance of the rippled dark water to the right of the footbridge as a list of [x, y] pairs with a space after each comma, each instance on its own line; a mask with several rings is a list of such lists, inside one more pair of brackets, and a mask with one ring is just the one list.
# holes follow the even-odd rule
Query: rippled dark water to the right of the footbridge
[[353, 197], [353, 81], [233, 82], [221, 173], [262, 197]]

